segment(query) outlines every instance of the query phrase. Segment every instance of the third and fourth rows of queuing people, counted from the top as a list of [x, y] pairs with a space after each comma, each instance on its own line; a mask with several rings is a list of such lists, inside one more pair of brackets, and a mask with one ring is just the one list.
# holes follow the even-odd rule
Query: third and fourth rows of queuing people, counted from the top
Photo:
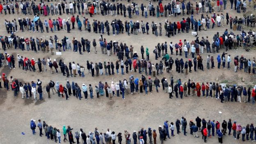
[[[242, 31], [240, 34], [235, 35], [233, 34], [233, 32], [229, 33], [228, 30], [225, 30], [224, 34], [222, 35], [217, 32], [217, 34], [213, 36], [213, 41], [211, 43], [210, 38], [207, 36], [206, 38], [201, 37], [201, 40], [199, 40], [199, 37], [197, 37], [191, 42], [187, 41], [186, 39], [184, 39], [183, 41], [179, 40], [175, 44], [172, 41], [170, 43], [167, 43], [167, 41], [165, 41], [162, 44], [158, 43], [157, 46], [155, 46], [155, 49], [151, 49], [151, 51], [148, 47], [146, 47], [145, 50], [144, 46], [141, 46], [140, 57], [139, 53], [133, 50], [134, 48], [132, 45], [128, 47], [128, 44], [126, 43], [119, 43], [118, 41], [112, 40], [108, 41], [105, 38], [103, 39], [101, 35], [99, 41], [96, 42], [96, 39], [93, 39], [92, 41], [94, 53], [97, 53], [97, 46], [100, 45], [100, 53], [105, 53], [108, 56], [114, 56], [115, 54], [117, 54], [117, 61], [98, 63], [87, 61], [86, 67], [87, 70], [90, 71], [92, 76], [95, 75], [94, 71], [96, 71], [96, 76], [103, 75], [104, 69], [105, 75], [114, 74], [114, 71], [119, 74], [119, 67], [121, 67], [121, 74], [123, 75], [125, 74], [124, 68], [126, 68], [126, 73], [134, 69], [135, 72], [137, 72], [138, 70], [139, 73], [142, 73], [145, 70], [146, 75], [148, 73], [149, 75], [151, 75], [153, 71], [153, 76], [155, 77], [155, 72], [157, 72], [157, 75], [159, 74], [159, 71], [162, 74], [164, 69], [167, 70], [167, 73], [169, 73], [170, 71], [172, 72], [172, 66], [173, 64], [175, 64], [176, 71], [178, 73], [184, 73], [185, 71], [185, 74], [188, 75], [188, 71], [192, 72], [192, 67], [194, 67], [194, 71], [197, 71], [197, 69], [203, 71], [203, 64], [205, 64], [205, 62], [203, 62], [203, 57], [201, 54], [204, 53], [204, 51], [207, 51], [207, 53], [218, 54], [216, 58], [213, 55], [207, 56], [207, 69], [214, 69], [216, 60], [218, 69], [220, 69], [221, 64], [224, 69], [230, 69], [231, 63], [233, 61], [235, 72], [237, 72], [238, 68], [241, 70], [245, 67], [244, 71], [246, 73], [248, 72], [249, 74], [255, 74], [255, 57], [246, 58], [241, 55], [241, 57], [239, 58], [238, 55], [236, 55], [234, 59], [231, 60], [231, 55], [225, 52], [220, 52], [221, 50], [228, 52], [231, 49], [237, 50], [238, 48], [244, 48], [246, 50], [246, 48], [251, 45], [252, 41], [254, 41], [253, 37], [254, 36], [252, 36], [252, 32], [250, 31], [247, 33]], [[43, 53], [48, 53], [50, 51], [51, 54], [54, 55], [54, 49], [56, 49], [56, 51], [70, 51], [73, 47], [73, 52], [79, 52], [81, 55], [85, 52], [87, 52], [88, 54], [91, 52], [91, 41], [89, 41], [88, 39], [84, 39], [83, 37], [81, 38], [81, 40], [78, 40], [75, 37], [73, 37], [73, 39], [71, 40], [69, 37], [64, 36], [63, 39], [60, 40], [57, 35], [55, 35], [54, 37], [50, 36], [49, 40], [43, 40], [42, 38], [34, 39], [32, 37], [30, 37], [30, 39], [24, 39], [23, 37], [18, 37], [15, 34], [11, 34], [11, 36], [6, 36], [5, 38], [2, 37], [2, 39], [4, 39], [2, 42], [2, 47], [4, 50], [6, 48], [11, 49], [13, 46], [14, 49], [19, 48], [21, 50], [25, 50], [26, 46], [27, 51], [32, 50], [36, 53], [38, 53], [39, 51], [42, 51]], [[12, 41], [10, 39], [12, 39]], [[53, 43], [55, 43], [55, 46]], [[169, 53], [168, 47], [170, 49]], [[176, 56], [174, 49], [176, 51]], [[144, 53], [146, 53], [146, 57], [144, 57]], [[151, 55], [152, 53], [155, 55], [155, 60], [161, 58], [159, 59], [160, 62], [157, 62], [155, 64], [151, 63], [151, 60], [149, 59], [150, 53]], [[185, 59], [178, 59], [178, 56], [182, 55], [185, 55]], [[57, 68], [60, 67], [63, 75], [66, 75], [67, 73], [67, 77], [76, 74], [73, 70], [77, 70], [80, 76], [85, 76], [85, 66], [82, 66], [81, 63], [75, 64], [75, 62], [69, 62], [68, 64], [64, 63], [62, 59], [60, 59], [59, 64], [57, 64], [56, 60], [52, 61], [50, 57], [48, 57], [48, 59], [46, 59], [46, 57], [43, 57], [42, 59], [38, 58], [38, 60], [35, 60], [34, 58], [31, 59], [26, 56], [17, 55], [16, 58], [16, 56], [8, 54], [7, 52], [5, 52], [5, 55], [3, 53], [0, 55], [0, 67], [9, 66], [10, 69], [15, 68], [16, 59], [18, 59], [18, 67], [22, 67], [22, 69], [25, 71], [27, 71], [28, 69], [30, 71], [35, 71], [35, 66], [37, 64], [39, 72], [41, 73], [43, 71], [43, 64], [44, 71], [46, 71], [49, 67], [50, 73], [53, 73], [53, 68], [55, 69], [55, 73], [58, 73]], [[239, 64], [240, 66], [238, 67]]]

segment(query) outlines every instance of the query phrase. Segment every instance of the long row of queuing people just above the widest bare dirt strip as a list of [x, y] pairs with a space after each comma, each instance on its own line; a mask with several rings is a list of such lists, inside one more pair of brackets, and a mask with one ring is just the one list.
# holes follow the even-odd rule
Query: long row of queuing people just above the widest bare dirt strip
[[[73, 66], [75, 66], [74, 63], [71, 67]], [[73, 69], [73, 76], [78, 74], [81, 75], [80, 73], [76, 74], [75, 71], [76, 69]], [[91, 71], [88, 69], [88, 73], [90, 72]], [[38, 79], [37, 82], [31, 81], [31, 85], [30, 82], [25, 82], [23, 85], [23, 83], [19, 82], [17, 78], [13, 78], [12, 76], [7, 78], [5, 73], [2, 73], [1, 79], [3, 80], [4, 87], [7, 89], [7, 91], [9, 91], [9, 87], [11, 87], [12, 91], [14, 91], [15, 97], [18, 96], [18, 92], [20, 91], [23, 99], [25, 96], [26, 98], [31, 98], [34, 96], [34, 101], [37, 101], [37, 94], [39, 94], [39, 100], [43, 100], [44, 90], [41, 86], [41, 80]], [[94, 98], [95, 95], [97, 98], [105, 95], [109, 99], [112, 99], [113, 96], [122, 96], [122, 99], [125, 99], [125, 95], [128, 95], [129, 93], [134, 95], [136, 92], [143, 93], [145, 91], [145, 94], [148, 94], [148, 92], [153, 91], [152, 87], [155, 86], [157, 92], [159, 92], [160, 87], [162, 87], [162, 90], [169, 94], [169, 98], [173, 97], [173, 93], [175, 93], [176, 98], [180, 97], [181, 99], [183, 99], [183, 96], [194, 96], [194, 94], [197, 93], [196, 95], [199, 97], [215, 97], [217, 100], [220, 99], [221, 103], [223, 103], [223, 101], [235, 101], [240, 103], [242, 103], [242, 101], [245, 103], [250, 103], [250, 101], [252, 101], [252, 104], [255, 103], [256, 95], [256, 85], [254, 87], [243, 87], [242, 85], [221, 85], [218, 82], [202, 82], [201, 84], [200, 82], [197, 82], [196, 84], [190, 79], [187, 82], [181, 82], [181, 79], [178, 79], [178, 82], [174, 83], [173, 76], [171, 76], [170, 83], [167, 81], [165, 76], [163, 76], [161, 80], [159, 80], [157, 77], [152, 80], [151, 76], [146, 78], [146, 76], [142, 74], [141, 78], [135, 78], [133, 75], [130, 75], [129, 79], [126, 80], [126, 78], [124, 78], [123, 80], [119, 80], [117, 82], [112, 81], [110, 85], [107, 82], [104, 84], [101, 81], [98, 83], [98, 85], [94, 84], [94, 82], [89, 82], [88, 86], [82, 84], [80, 87], [78, 83], [74, 81], [70, 83], [69, 80], [67, 80], [65, 87], [64, 83], [61, 84], [57, 81], [55, 84], [55, 82], [50, 80], [50, 82], [46, 84], [46, 92], [48, 94], [48, 98], [51, 98], [50, 90], [52, 90], [53, 95], [57, 93], [59, 97], [62, 96], [62, 98], [64, 98], [66, 96], [66, 100], [69, 100], [69, 96], [71, 96], [71, 94], [81, 100], [81, 98], [83, 98], [81, 94], [82, 92], [85, 96], [85, 100], [88, 98], [88, 93], [90, 94], [90, 98]], [[162, 86], [160, 86], [161, 84]], [[0, 88], [2, 88], [1, 82]]]

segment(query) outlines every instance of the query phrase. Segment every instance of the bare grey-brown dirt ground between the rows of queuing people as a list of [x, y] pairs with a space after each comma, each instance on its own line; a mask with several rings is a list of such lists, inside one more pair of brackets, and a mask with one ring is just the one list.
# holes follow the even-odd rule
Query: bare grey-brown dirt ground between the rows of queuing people
[[[122, 1], [123, 3], [127, 4], [127, 1]], [[147, 0], [140, 0], [139, 4], [143, 2], [147, 5]], [[165, 4], [169, 1], [163, 1]], [[194, 1], [192, 1], [195, 3]], [[238, 14], [230, 9], [230, 3], [227, 2], [227, 10], [223, 11], [222, 13], [225, 15], [226, 12], [229, 12], [230, 16], [238, 16]], [[155, 5], [156, 2], [154, 2]], [[195, 5], [195, 4], [194, 4]], [[216, 8], [215, 8], [216, 9]], [[128, 12], [126, 13], [128, 15]], [[220, 14], [220, 12], [216, 12], [216, 14]], [[206, 15], [206, 14], [204, 14]], [[240, 15], [239, 15], [240, 16]], [[12, 20], [14, 18], [32, 18], [32, 16], [24, 16], [24, 15], [1, 15], [0, 23], [4, 23], [4, 19]], [[50, 16], [52, 19], [57, 18], [57, 16]], [[61, 18], [70, 17], [66, 15], [62, 15]], [[92, 19], [97, 19], [99, 21], [112, 21], [112, 19], [117, 18], [122, 21], [130, 19], [128, 16], [124, 18], [123, 16], [101, 16], [96, 15], [93, 18], [90, 18], [89, 15], [85, 15], [86, 18], [89, 18], [90, 22]], [[187, 15], [185, 15], [187, 17]], [[199, 18], [200, 15], [194, 14], [194, 17]], [[142, 16], [133, 16], [133, 21], [140, 21], [144, 20], [144, 22], [154, 21], [155, 23], [162, 23], [162, 29], [164, 31], [164, 22], [165, 19], [169, 21], [180, 21], [182, 16], [174, 18], [174, 16], [165, 17], [152, 17], [149, 16], [148, 18], [144, 18]], [[41, 20], [48, 19], [48, 17], [41, 16]], [[80, 16], [82, 19], [82, 16]], [[225, 20], [226, 22], [226, 20]], [[77, 26], [77, 25], [75, 25]], [[229, 25], [225, 25], [225, 27], [215, 27], [215, 30], [208, 30], [208, 31], [201, 31], [199, 32], [199, 39], [201, 37], [209, 36], [211, 40], [213, 34], [219, 32], [222, 34], [225, 29], [229, 29]], [[4, 27], [1, 28], [2, 35], [7, 35], [7, 32]], [[158, 31], [159, 32], [159, 31]], [[238, 32], [234, 32], [238, 34]], [[54, 36], [57, 34], [59, 39], [62, 39], [64, 36], [67, 37], [76, 37], [80, 40], [81, 37], [89, 39], [92, 41], [93, 39], [98, 39], [100, 34], [95, 34], [93, 32], [88, 33], [87, 31], [78, 32], [77, 29], [71, 30], [71, 33], [68, 34], [66, 31], [61, 30], [59, 32], [54, 33], [40, 33], [40, 32], [17, 32], [16, 33], [20, 37], [42, 37], [43, 39], [49, 39], [50, 36]], [[167, 41], [173, 41], [173, 43], [178, 43], [179, 39], [187, 39], [188, 41], [192, 41], [195, 39], [194, 36], [190, 33], [181, 33], [177, 34], [174, 37], [168, 38], [164, 36], [165, 33], [163, 32], [162, 37], [155, 37], [152, 33], [150, 35], [146, 34], [138, 34], [133, 35], [131, 34], [128, 36], [127, 34], [119, 34], [118, 36], [107, 36], [107, 34], [103, 35], [103, 38], [106, 38], [107, 41], [119, 41], [126, 43], [128, 46], [133, 45], [134, 51], [140, 52], [140, 46], [144, 46], [144, 48], [148, 47], [150, 53], [150, 60], [152, 63], [159, 62], [154, 60], [153, 49], [157, 45], [157, 43], [164, 43]], [[100, 51], [99, 43], [97, 43], [97, 49]], [[220, 50], [219, 54], [222, 54], [224, 50]], [[206, 52], [206, 50], [205, 50]], [[1, 53], [3, 51], [1, 50]], [[13, 54], [15, 57], [17, 54], [23, 55], [23, 57], [29, 57], [30, 59], [34, 57], [43, 58], [43, 57], [50, 57], [52, 60], [57, 59], [64, 59], [65, 63], [75, 61], [82, 66], [86, 66], [86, 60], [92, 62], [104, 62], [104, 61], [113, 61], [117, 60], [115, 55], [107, 56], [101, 53], [84, 53], [84, 55], [79, 55], [78, 53], [73, 53], [71, 51], [62, 52], [62, 55], [50, 55], [50, 53], [34, 53], [34, 52], [27, 52], [27, 51], [20, 51], [14, 49], [8, 49], [7, 53]], [[168, 53], [170, 53], [168, 48]], [[242, 71], [238, 71], [238, 73], [234, 73], [233, 68], [233, 57], [236, 55], [244, 55], [246, 58], [251, 58], [255, 56], [255, 51], [251, 51], [250, 53], [245, 52], [245, 50], [238, 49], [238, 50], [229, 50], [228, 54], [231, 55], [232, 62], [231, 62], [231, 69], [206, 69], [204, 71], [192, 72], [189, 75], [185, 76], [184, 73], [178, 74], [175, 71], [171, 72], [170, 74], [164, 72], [163, 75], [159, 75], [158, 78], [162, 79], [163, 76], [167, 77], [168, 82], [170, 82], [170, 78], [173, 75], [174, 81], [181, 78], [182, 83], [186, 82], [189, 78], [193, 79], [195, 82], [215, 82], [216, 78], [218, 78], [218, 82], [220, 83], [227, 83], [228, 85], [231, 84], [242, 84], [242, 85], [255, 85], [256, 78], [255, 75], [249, 75], [248, 73], [244, 73]], [[141, 57], [141, 54], [138, 54]], [[203, 64], [206, 66], [206, 57], [207, 53], [203, 53]], [[217, 53], [213, 55], [215, 57], [215, 65], [217, 64]], [[174, 59], [176, 56], [171, 55]], [[191, 59], [191, 55], [188, 56]], [[180, 56], [178, 57], [181, 58]], [[182, 58], [186, 61], [184, 56]], [[17, 61], [17, 59], [16, 59]], [[18, 62], [16, 63], [16, 66]], [[37, 67], [37, 66], [36, 66]], [[174, 67], [175, 68], [175, 67]], [[86, 71], [87, 72], [87, 71]], [[8, 68], [1, 68], [0, 73], [7, 73], [7, 76], [13, 76], [14, 78], [18, 78], [22, 82], [31, 82], [32, 80], [36, 81], [40, 79], [43, 85], [43, 91], [45, 92], [45, 85], [50, 80], [59, 81], [60, 84], [65, 85], [66, 80], [70, 82], [74, 81], [77, 82], [80, 86], [82, 83], [85, 83], [87, 86], [89, 84], [97, 85], [99, 81], [108, 82], [109, 84], [111, 81], [117, 82], [118, 80], [122, 80], [123, 78], [128, 78], [131, 74], [135, 77], [140, 77], [139, 73], [130, 72], [126, 75], [117, 75], [114, 76], [105, 76], [101, 75], [99, 77], [92, 78], [91, 75], [85, 72], [85, 78], [76, 77], [76, 78], [66, 78], [62, 76], [61, 73], [58, 74], [50, 74], [49, 72], [37, 73], [28, 72], [21, 69], [8, 69]], [[152, 77], [152, 76], [151, 76]], [[244, 79], [244, 81], [242, 81]], [[160, 88], [162, 89], [162, 88]], [[237, 123], [241, 123], [242, 126], [245, 126], [247, 123], [254, 123], [256, 115], [255, 115], [255, 107], [251, 104], [245, 103], [220, 103], [219, 100], [210, 99], [210, 98], [203, 98], [197, 96], [185, 97], [184, 99], [169, 99], [168, 94], [165, 94], [162, 90], [159, 93], [156, 93], [155, 87], [153, 87], [153, 92], [149, 93], [148, 95], [144, 94], [129, 94], [126, 96], [126, 99], [122, 100], [121, 98], [117, 98], [114, 96], [112, 100], [107, 99], [105, 96], [101, 96], [99, 99], [88, 99], [85, 101], [83, 98], [81, 101], [76, 99], [75, 97], [71, 96], [69, 101], [66, 101], [64, 98], [59, 98], [57, 94], [52, 95], [52, 98], [49, 100], [47, 98], [47, 93], [43, 93], [43, 101], [34, 102], [32, 99], [21, 99], [21, 94], [18, 97], [13, 96], [13, 91], [6, 91], [6, 89], [0, 89], [0, 144], [6, 144], [8, 142], [12, 143], [19, 143], [19, 144], [45, 144], [45, 143], [53, 143], [50, 140], [47, 140], [46, 137], [39, 137], [39, 130], [36, 129], [37, 134], [32, 135], [30, 129], [30, 119], [41, 119], [42, 121], [46, 121], [46, 123], [52, 125], [61, 130], [63, 125], [70, 125], [73, 130], [73, 135], [76, 130], [79, 131], [80, 128], [88, 134], [89, 131], [94, 131], [94, 128], [97, 127], [100, 132], [106, 132], [107, 128], [110, 130], [115, 131], [116, 133], [121, 132], [123, 130], [128, 130], [129, 133], [133, 133], [133, 130], [139, 130], [141, 127], [148, 129], [151, 127], [152, 129], [158, 129], [159, 125], [163, 125], [165, 120], [169, 120], [169, 122], [175, 122], [176, 119], [180, 119], [181, 116], [187, 118], [187, 122], [189, 123], [190, 119], [195, 121], [195, 118], [199, 116], [200, 118], [208, 119], [215, 119], [215, 121], [222, 121], [228, 120], [229, 118], [236, 120]], [[83, 94], [82, 94], [83, 95]], [[94, 94], [94, 96], [96, 96]], [[37, 96], [39, 97], [39, 96]], [[222, 112], [222, 114], [219, 114]], [[37, 121], [36, 121], [37, 123]], [[187, 128], [189, 131], [189, 128]], [[24, 132], [25, 135], [21, 133]], [[176, 128], [175, 131], [176, 133]], [[44, 132], [43, 132], [44, 133]], [[158, 137], [159, 137], [159, 133]], [[201, 134], [199, 134], [201, 136]], [[63, 137], [63, 135], [62, 135]], [[167, 139], [165, 143], [190, 143], [190, 138], [192, 139], [193, 143], [203, 142], [201, 138], [193, 138], [191, 135], [188, 134], [187, 137], [183, 136], [182, 134], [176, 135], [175, 137], [171, 137], [171, 139]], [[46, 141], [44, 141], [46, 140]], [[223, 139], [224, 143], [233, 143], [238, 142], [235, 141], [231, 136], [224, 136]], [[239, 140], [240, 142], [240, 140]], [[157, 138], [157, 143], [160, 143], [159, 139]], [[217, 143], [217, 137], [213, 137], [208, 139], [208, 143]], [[249, 142], [247, 142], [249, 143]]]

